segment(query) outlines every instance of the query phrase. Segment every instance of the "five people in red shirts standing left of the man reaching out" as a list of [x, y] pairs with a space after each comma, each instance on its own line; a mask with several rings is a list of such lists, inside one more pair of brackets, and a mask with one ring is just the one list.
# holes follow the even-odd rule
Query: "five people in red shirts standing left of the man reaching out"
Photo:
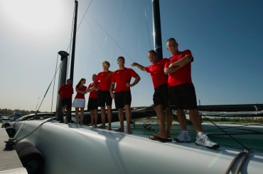
[[[124, 117], [127, 120], [127, 134], [132, 134], [130, 130], [130, 122], [132, 117], [131, 103], [132, 94], [130, 88], [135, 86], [140, 80], [140, 76], [136, 74], [133, 69], [124, 66], [124, 57], [118, 57], [117, 64], [119, 69], [117, 71], [109, 71], [109, 62], [102, 62], [103, 71], [99, 74], [92, 75], [92, 83], [85, 86], [86, 79], [80, 79], [75, 87], [77, 92], [73, 103], [71, 105], [71, 98], [73, 95], [72, 81], [68, 79], [67, 84], [60, 87], [58, 93], [61, 95], [63, 110], [67, 110], [65, 123], [68, 122], [71, 107], [75, 108], [76, 124], [83, 124], [84, 108], [85, 108], [85, 93], [90, 93], [87, 108], [90, 110], [90, 126], [97, 127], [97, 108], [101, 109], [102, 124], [100, 129], [105, 129], [106, 123], [106, 108], [107, 107], [107, 129], [112, 130], [112, 100], [114, 99], [115, 108], [118, 110], [118, 117], [120, 122], [117, 132], [124, 132]], [[131, 83], [132, 77], [134, 82]], [[71, 86], [71, 88], [70, 88]], [[64, 92], [63, 92], [64, 91]], [[67, 94], [65, 96], [65, 94]], [[80, 112], [80, 122], [78, 120]]]

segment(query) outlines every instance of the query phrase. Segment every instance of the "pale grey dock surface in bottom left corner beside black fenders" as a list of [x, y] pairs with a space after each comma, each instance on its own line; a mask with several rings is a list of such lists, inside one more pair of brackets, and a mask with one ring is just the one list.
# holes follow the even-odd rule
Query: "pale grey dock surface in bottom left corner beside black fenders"
[[0, 173], [28, 173], [16, 153], [14, 151], [4, 151], [6, 143], [4, 141], [9, 140], [9, 135], [6, 133], [6, 129], [0, 127]]

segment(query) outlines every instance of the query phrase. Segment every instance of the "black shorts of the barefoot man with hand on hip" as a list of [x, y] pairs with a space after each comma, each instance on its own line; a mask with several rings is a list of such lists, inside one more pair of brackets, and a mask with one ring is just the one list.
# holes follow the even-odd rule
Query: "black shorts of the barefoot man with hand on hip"
[[114, 102], [116, 109], [124, 108], [124, 105], [131, 105], [132, 94], [131, 91], [122, 91], [114, 93]]

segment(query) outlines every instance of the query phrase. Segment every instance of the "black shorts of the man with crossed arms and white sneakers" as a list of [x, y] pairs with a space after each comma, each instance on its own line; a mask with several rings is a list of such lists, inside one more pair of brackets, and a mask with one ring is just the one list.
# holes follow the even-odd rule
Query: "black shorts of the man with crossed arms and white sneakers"
[[196, 109], [196, 95], [193, 84], [181, 84], [168, 88], [169, 104], [174, 105], [176, 109]]

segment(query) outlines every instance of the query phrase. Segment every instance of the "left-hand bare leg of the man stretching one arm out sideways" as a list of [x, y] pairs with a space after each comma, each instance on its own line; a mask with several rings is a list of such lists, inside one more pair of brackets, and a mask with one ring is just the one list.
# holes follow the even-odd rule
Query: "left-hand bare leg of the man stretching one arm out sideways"
[[164, 124], [164, 112], [163, 112], [163, 106], [162, 105], [156, 105], [154, 107], [154, 110], [156, 112], [157, 115], [157, 119], [159, 120], [159, 133], [158, 136], [166, 139], [167, 138], [167, 134], [165, 131], [165, 124]]

